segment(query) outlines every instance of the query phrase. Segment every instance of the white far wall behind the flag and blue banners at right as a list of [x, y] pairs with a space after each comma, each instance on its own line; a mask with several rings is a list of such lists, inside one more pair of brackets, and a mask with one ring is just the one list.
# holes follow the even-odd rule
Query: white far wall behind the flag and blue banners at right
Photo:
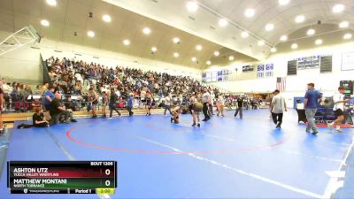
[[[257, 78], [257, 69], [251, 73], [242, 73], [242, 65], [240, 63], [231, 63], [228, 66], [221, 67], [229, 69], [235, 73], [235, 68], [238, 68], [237, 75], [234, 74], [235, 80], [227, 82], [214, 82], [215, 86], [227, 89], [235, 93], [250, 93], [250, 92], [269, 92], [275, 89], [276, 77], [287, 77], [286, 92], [282, 95], [289, 100], [289, 105], [292, 105], [292, 100], [295, 96], [304, 96], [306, 84], [313, 82], [316, 88], [321, 90], [325, 96], [332, 96], [335, 90], [339, 87], [340, 80], [354, 80], [354, 71], [342, 71], [342, 53], [354, 52], [354, 42], [348, 42], [341, 45], [325, 46], [312, 50], [298, 50], [292, 53], [276, 54], [266, 60], [258, 63], [273, 64], [274, 74], [272, 78]], [[298, 70], [296, 75], [287, 76], [288, 61], [297, 57], [306, 57], [313, 55], [332, 55], [332, 73], [319, 73], [319, 68]], [[256, 64], [256, 63], [253, 63]], [[205, 71], [220, 70], [212, 66]], [[244, 76], [244, 77], [242, 77]], [[244, 80], [244, 79], [248, 80]]]

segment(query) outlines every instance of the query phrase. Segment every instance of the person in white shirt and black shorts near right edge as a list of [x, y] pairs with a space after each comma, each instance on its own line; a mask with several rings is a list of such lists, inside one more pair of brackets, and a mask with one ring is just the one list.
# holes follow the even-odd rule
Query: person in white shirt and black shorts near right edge
[[330, 130], [332, 130], [333, 126], [336, 124], [336, 132], [338, 133], [342, 133], [341, 124], [342, 120], [344, 120], [344, 103], [349, 102], [349, 99], [344, 99], [344, 91], [345, 88], [339, 87], [338, 92], [336, 92], [333, 96], [333, 102], [335, 103], [333, 111], [335, 111], [335, 116], [337, 119], [335, 119], [332, 123], [328, 123], [328, 128]]

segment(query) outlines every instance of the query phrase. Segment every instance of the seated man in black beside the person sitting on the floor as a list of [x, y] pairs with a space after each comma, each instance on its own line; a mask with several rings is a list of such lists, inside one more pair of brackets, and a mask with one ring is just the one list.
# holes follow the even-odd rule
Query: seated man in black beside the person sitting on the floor
[[50, 103], [50, 117], [52, 119], [52, 123], [58, 124], [61, 117], [64, 117], [63, 122], [68, 124], [70, 122], [77, 122], [76, 119], [73, 119], [73, 111], [68, 111], [65, 109], [65, 106], [61, 104], [61, 95], [57, 92], [55, 98]]

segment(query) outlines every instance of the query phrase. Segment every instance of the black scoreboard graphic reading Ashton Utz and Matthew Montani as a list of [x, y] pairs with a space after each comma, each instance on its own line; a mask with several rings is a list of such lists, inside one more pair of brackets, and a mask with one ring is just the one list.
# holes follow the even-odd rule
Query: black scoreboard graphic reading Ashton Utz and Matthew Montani
[[116, 161], [9, 161], [12, 194], [114, 194]]

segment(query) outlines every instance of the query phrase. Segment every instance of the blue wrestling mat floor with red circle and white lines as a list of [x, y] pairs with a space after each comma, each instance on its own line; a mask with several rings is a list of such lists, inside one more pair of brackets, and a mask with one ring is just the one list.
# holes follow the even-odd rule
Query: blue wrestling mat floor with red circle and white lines
[[[267, 110], [245, 111], [242, 120], [233, 114], [200, 128], [190, 127], [190, 115], [181, 115], [181, 125], [153, 115], [15, 129], [7, 160], [117, 160], [111, 198], [321, 198], [325, 172], [342, 169], [353, 141], [351, 129], [306, 134], [292, 110], [281, 130]], [[10, 195], [5, 171], [0, 198], [99, 198]]]

